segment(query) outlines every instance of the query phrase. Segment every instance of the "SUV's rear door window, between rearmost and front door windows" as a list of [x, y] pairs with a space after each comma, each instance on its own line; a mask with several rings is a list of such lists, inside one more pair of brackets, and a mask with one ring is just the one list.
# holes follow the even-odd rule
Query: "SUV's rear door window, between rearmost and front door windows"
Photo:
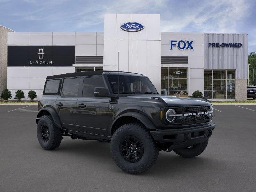
[[62, 97], [78, 97], [80, 78], [64, 79], [62, 86]]

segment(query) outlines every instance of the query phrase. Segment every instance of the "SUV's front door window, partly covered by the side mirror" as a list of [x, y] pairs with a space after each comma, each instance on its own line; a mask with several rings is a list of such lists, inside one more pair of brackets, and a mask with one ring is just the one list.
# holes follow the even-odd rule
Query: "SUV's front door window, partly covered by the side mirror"
[[95, 87], [105, 87], [102, 76], [84, 78], [83, 97], [94, 97]]

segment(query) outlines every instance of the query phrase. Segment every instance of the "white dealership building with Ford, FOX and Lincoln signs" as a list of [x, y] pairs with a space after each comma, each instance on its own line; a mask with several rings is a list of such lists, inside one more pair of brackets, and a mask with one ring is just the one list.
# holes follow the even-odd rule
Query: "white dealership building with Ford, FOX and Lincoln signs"
[[158, 92], [178, 97], [199, 90], [209, 100], [247, 99], [247, 34], [160, 28], [159, 14], [105, 14], [104, 32], [5, 31], [1, 87], [12, 100], [18, 89], [35, 90], [40, 99], [46, 76], [112, 70], [144, 74]]

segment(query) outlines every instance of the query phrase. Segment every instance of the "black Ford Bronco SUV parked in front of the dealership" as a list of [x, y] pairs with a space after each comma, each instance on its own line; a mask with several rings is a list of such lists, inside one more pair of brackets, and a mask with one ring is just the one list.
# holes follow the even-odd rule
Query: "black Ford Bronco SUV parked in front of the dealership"
[[215, 128], [208, 100], [160, 95], [147, 76], [128, 72], [48, 76], [38, 110], [42, 148], [59, 147], [63, 136], [110, 142], [116, 165], [132, 174], [152, 167], [159, 150], [198, 156]]

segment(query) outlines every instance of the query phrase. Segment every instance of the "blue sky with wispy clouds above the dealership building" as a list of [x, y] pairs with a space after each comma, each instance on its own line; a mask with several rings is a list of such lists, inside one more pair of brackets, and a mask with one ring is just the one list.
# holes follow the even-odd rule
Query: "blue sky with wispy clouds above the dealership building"
[[0, 25], [17, 32], [101, 32], [104, 13], [159, 13], [162, 32], [248, 33], [256, 52], [255, 0], [0, 0]]

